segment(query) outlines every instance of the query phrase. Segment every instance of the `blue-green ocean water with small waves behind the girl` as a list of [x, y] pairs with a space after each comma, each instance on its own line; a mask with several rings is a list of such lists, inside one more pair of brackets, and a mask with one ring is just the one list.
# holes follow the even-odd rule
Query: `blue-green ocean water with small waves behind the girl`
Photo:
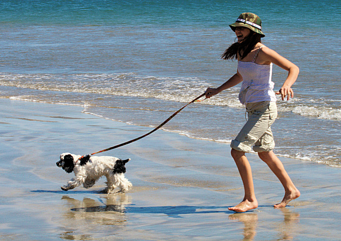
[[[242, 12], [259, 15], [263, 43], [301, 70], [295, 97], [277, 102], [275, 153], [341, 167], [338, 1], [2, 0], [0, 97], [157, 126], [236, 72], [220, 55]], [[286, 74], [274, 66], [275, 90]], [[164, 129], [229, 143], [245, 123], [239, 88], [191, 104]]]

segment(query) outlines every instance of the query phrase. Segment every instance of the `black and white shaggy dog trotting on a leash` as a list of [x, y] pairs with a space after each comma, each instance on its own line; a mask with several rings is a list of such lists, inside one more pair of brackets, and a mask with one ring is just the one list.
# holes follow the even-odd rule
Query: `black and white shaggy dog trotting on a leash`
[[132, 189], [132, 183], [124, 176], [126, 172], [125, 164], [129, 159], [121, 160], [113, 156], [84, 156], [79, 160], [80, 155], [63, 153], [60, 160], [57, 161], [57, 167], [61, 167], [65, 172], [75, 173], [72, 178], [63, 187], [67, 191], [83, 184], [88, 189], [95, 185], [95, 182], [102, 176], [107, 178], [107, 187], [103, 190], [105, 193], [114, 193], [115, 188], [118, 192], [127, 192]]

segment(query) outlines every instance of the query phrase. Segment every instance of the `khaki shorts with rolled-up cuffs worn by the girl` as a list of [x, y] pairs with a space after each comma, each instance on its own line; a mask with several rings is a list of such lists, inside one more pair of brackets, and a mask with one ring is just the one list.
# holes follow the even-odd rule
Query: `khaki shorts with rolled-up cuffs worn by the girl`
[[275, 148], [270, 126], [277, 118], [276, 102], [246, 103], [248, 120], [231, 148], [240, 152], [269, 152]]

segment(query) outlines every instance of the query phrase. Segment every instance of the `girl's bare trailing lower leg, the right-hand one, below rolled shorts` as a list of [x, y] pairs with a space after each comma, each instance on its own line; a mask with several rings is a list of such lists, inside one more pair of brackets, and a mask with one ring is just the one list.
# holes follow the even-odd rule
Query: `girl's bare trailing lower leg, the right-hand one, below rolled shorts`
[[284, 166], [280, 159], [272, 152], [259, 152], [259, 157], [269, 166], [271, 171], [275, 173], [281, 181], [285, 194], [281, 203], [274, 205], [274, 207], [285, 207], [291, 200], [298, 198], [301, 193], [291, 181], [288, 173], [285, 172]]

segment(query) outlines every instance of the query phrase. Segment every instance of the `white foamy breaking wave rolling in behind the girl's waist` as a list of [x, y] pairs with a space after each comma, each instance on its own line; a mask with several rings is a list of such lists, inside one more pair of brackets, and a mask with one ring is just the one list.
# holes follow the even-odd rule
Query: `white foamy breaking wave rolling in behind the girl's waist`
[[[181, 103], [189, 103], [210, 86], [207, 81], [194, 77], [170, 78], [141, 76], [135, 73], [88, 73], [62, 76], [0, 73], [0, 85], [48, 91], [156, 98]], [[239, 87], [232, 87], [199, 104], [244, 108], [244, 105], [239, 103], [238, 93]], [[22, 96], [19, 98], [23, 99]], [[301, 105], [301, 103], [305, 104]], [[291, 111], [302, 116], [341, 120], [341, 109], [337, 105], [331, 106], [327, 100], [321, 98], [318, 100], [293, 98], [288, 102], [279, 102], [278, 106], [280, 111]]]

